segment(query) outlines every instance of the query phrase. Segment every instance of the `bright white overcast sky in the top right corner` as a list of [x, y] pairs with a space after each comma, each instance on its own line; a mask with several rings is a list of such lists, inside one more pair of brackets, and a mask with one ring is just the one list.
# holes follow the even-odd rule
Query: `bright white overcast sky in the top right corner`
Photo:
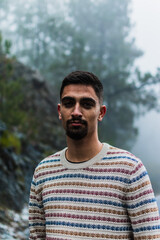
[[156, 72], [160, 67], [160, 0], [132, 0], [133, 35], [144, 55], [136, 64], [142, 71]]

